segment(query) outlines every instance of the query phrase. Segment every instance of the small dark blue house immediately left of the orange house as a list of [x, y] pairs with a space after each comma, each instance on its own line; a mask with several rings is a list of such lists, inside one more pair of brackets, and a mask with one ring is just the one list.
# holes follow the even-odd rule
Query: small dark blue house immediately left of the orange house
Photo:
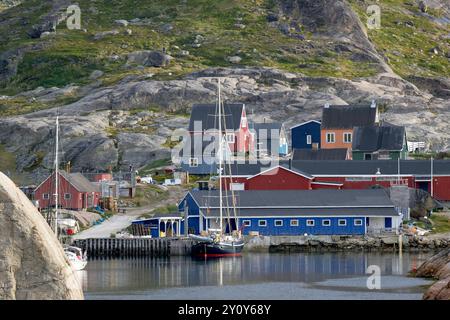
[[310, 120], [291, 128], [291, 147], [293, 149], [312, 149], [317, 143], [320, 148], [320, 121]]

